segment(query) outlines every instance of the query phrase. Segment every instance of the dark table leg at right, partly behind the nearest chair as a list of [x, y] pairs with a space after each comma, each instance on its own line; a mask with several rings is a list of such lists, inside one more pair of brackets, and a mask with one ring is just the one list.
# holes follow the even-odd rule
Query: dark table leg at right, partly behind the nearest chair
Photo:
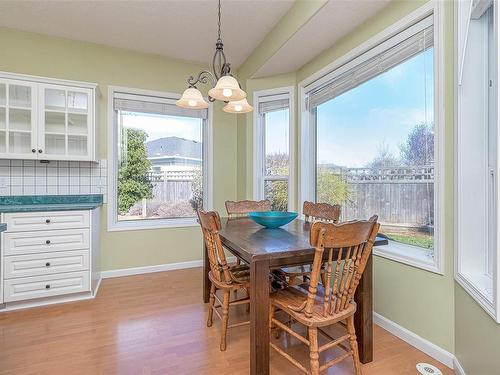
[[366, 263], [365, 271], [359, 281], [356, 295], [357, 311], [354, 327], [359, 346], [361, 363], [373, 361], [373, 259]]

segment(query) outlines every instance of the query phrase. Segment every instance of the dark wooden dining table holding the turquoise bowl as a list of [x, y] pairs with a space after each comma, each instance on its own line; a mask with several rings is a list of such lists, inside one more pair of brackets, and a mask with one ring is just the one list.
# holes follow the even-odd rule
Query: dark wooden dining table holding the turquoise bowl
[[[296, 219], [281, 228], [267, 229], [244, 218], [221, 218], [222, 245], [250, 267], [250, 374], [269, 374], [269, 274], [285, 266], [310, 264], [314, 247], [309, 243], [311, 223]], [[374, 246], [387, 245], [377, 236]], [[203, 301], [210, 297], [210, 265], [203, 258]], [[327, 256], [325, 252], [325, 257]], [[373, 360], [373, 263], [370, 256], [355, 301], [356, 336], [362, 363]]]

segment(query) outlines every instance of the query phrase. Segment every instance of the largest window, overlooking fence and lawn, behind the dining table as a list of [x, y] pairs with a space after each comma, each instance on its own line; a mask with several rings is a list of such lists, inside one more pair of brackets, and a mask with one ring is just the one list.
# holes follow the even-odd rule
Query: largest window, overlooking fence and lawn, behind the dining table
[[376, 255], [442, 272], [437, 36], [426, 13], [303, 85], [301, 191], [340, 204], [344, 221], [377, 214], [389, 245]]

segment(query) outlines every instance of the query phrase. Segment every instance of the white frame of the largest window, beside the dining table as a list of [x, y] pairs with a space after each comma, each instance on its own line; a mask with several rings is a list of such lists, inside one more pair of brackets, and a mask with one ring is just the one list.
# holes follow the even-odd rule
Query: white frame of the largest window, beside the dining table
[[[398, 22], [389, 26], [379, 34], [371, 37], [358, 47], [354, 48], [346, 55], [335, 60], [320, 71], [301, 81], [299, 87], [300, 103], [300, 167], [299, 167], [299, 196], [300, 201], [315, 199], [315, 170], [316, 170], [316, 135], [315, 127], [311, 124], [311, 113], [307, 109], [307, 93], [322, 86], [342, 74], [352, 66], [366, 61], [370, 56], [387, 48], [390, 38], [397, 39], [398, 34], [408, 27], [433, 15], [434, 25], [434, 257], [432, 261], [422, 256], [408, 255], [407, 251], [411, 247], [413, 250], [419, 249], [411, 245], [390, 243], [386, 246], [374, 248], [373, 253], [377, 256], [401, 262], [413, 267], [421, 268], [430, 272], [444, 275], [444, 18], [443, 4], [439, 0], [431, 0], [416, 9], [409, 15], [403, 17]], [[396, 44], [397, 42], [394, 42]], [[384, 46], [385, 44], [385, 46]], [[403, 251], [402, 251], [403, 250]], [[411, 253], [411, 252], [410, 252]]]

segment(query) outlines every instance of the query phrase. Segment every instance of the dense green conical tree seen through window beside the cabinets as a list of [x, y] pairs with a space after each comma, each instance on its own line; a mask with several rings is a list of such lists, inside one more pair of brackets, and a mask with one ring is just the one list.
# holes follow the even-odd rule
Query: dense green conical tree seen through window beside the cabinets
[[126, 145], [118, 170], [118, 211], [127, 213], [134, 203], [151, 199], [153, 187], [147, 172], [151, 163], [144, 145], [147, 134], [138, 129], [124, 129]]

